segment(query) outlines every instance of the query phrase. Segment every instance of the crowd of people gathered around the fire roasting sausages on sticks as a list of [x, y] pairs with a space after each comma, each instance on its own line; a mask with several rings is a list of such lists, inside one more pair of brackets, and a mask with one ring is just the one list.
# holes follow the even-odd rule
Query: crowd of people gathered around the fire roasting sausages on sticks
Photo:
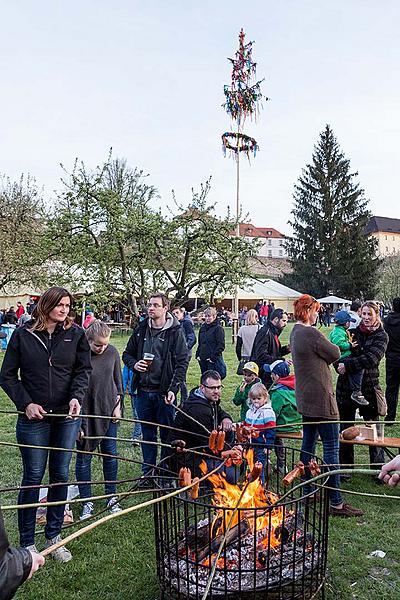
[[[107, 324], [90, 315], [93, 318], [86, 329], [80, 328], [70, 316], [72, 302], [71, 294], [63, 288], [51, 288], [41, 296], [29, 320], [15, 330], [9, 341], [0, 385], [19, 411], [16, 437], [21, 444], [23, 478], [18, 503], [38, 501], [37, 486], [46, 469], [48, 501], [66, 501], [71, 450], [76, 447], [84, 451], [77, 455], [76, 479], [80, 496], [87, 499], [80, 514], [85, 520], [94, 509], [90, 500], [92, 454], [85, 452], [97, 448], [105, 455], [106, 508], [111, 513], [121, 511], [116, 488], [118, 461], [114, 457], [118, 453], [117, 428], [125, 393], [130, 395], [134, 418], [140, 421], [135, 423], [132, 436], [141, 446], [143, 488], [151, 485], [149, 474], [158, 462], [158, 439], [163, 460], [176, 437], [174, 428], [187, 448], [205, 448], [205, 431], [214, 429], [225, 431], [226, 443], [233, 443], [235, 424], [221, 406], [222, 380], [227, 376], [225, 332], [214, 307], [206, 309], [198, 333], [195, 357], [200, 384], [189, 391], [186, 378], [196, 334], [183, 308], [175, 307], [171, 312], [163, 293], [149, 298], [147, 316], [138, 323], [123, 352], [121, 373], [119, 353], [110, 344]], [[282, 441], [276, 437], [282, 426], [286, 432], [302, 429], [304, 464], [314, 455], [318, 436], [329, 469], [354, 463], [353, 446], [340, 444], [339, 421], [354, 421], [356, 410], [366, 421], [378, 420], [383, 414], [379, 364], [385, 354], [387, 424], [390, 426], [396, 418], [400, 299], [393, 301], [393, 311], [384, 323], [374, 302], [358, 307], [353, 304], [349, 312], [338, 311], [330, 339], [315, 326], [319, 310], [318, 301], [307, 294], [294, 302], [295, 324], [288, 345], [282, 345], [279, 339], [288, 323], [283, 309], [260, 301], [254, 309], [246, 308], [245, 315], [242, 311], [236, 342], [242, 380], [230, 400], [240, 407], [240, 423], [252, 429], [255, 458], [263, 465], [262, 481], [268, 478], [272, 449], [277, 458], [275, 468], [285, 473]], [[356, 325], [353, 330], [352, 325]], [[285, 358], [289, 355], [291, 358]], [[336, 396], [331, 365], [338, 373]], [[178, 399], [180, 410], [176, 411]], [[213, 468], [213, 459], [207, 460]], [[370, 460], [383, 465], [382, 449], [370, 447]], [[397, 485], [399, 476], [392, 471], [398, 469], [399, 457], [382, 466], [379, 480]], [[225, 474], [228, 481], [233, 481], [229, 468]], [[362, 514], [343, 501], [335, 474], [330, 477], [329, 496], [331, 515]], [[53, 558], [68, 562], [71, 552], [60, 545], [63, 515], [63, 504], [47, 508], [45, 546], [51, 549], [56, 545], [51, 552]], [[0, 593], [0, 599], [11, 598], [19, 583], [43, 564], [35, 545], [35, 523], [35, 508], [19, 509], [21, 548], [10, 548], [0, 515], [0, 588], [7, 581], [7, 589], [11, 590], [9, 595]]]

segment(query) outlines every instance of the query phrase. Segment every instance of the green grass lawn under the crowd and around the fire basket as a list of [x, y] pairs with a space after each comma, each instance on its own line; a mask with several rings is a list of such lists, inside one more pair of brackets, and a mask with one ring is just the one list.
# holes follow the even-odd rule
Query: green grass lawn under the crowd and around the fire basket
[[[289, 325], [281, 339], [285, 343], [290, 334]], [[324, 329], [323, 331], [327, 331]], [[235, 418], [239, 410], [233, 406], [230, 398], [240, 381], [236, 372], [237, 360], [230, 339], [230, 329], [226, 330], [227, 350], [225, 360], [228, 365], [228, 377], [224, 382], [223, 404]], [[127, 337], [116, 335], [112, 343], [123, 350]], [[192, 360], [188, 382], [190, 387], [197, 385], [199, 368]], [[384, 385], [384, 365], [381, 364], [381, 382]], [[127, 416], [130, 409], [127, 405]], [[14, 405], [0, 392], [0, 408], [13, 409]], [[399, 413], [397, 418], [399, 419]], [[15, 417], [0, 414], [0, 440], [15, 441]], [[390, 431], [390, 433], [389, 433]], [[400, 436], [400, 426], [387, 430], [387, 435]], [[130, 436], [130, 425], [123, 424], [121, 437]], [[120, 453], [139, 461], [140, 451], [129, 444], [120, 443]], [[0, 483], [1, 486], [19, 485], [21, 480], [21, 461], [17, 448], [1, 447]], [[368, 453], [356, 447], [356, 461], [368, 461]], [[73, 461], [74, 462], [74, 461]], [[73, 466], [73, 465], [72, 465]], [[139, 474], [139, 466], [120, 462], [119, 478], [129, 478]], [[71, 479], [74, 479], [71, 472]], [[102, 479], [101, 464], [93, 460], [93, 478]], [[128, 484], [121, 485], [127, 489]], [[94, 488], [97, 494], [102, 487]], [[330, 520], [330, 540], [328, 559], [327, 600], [400, 599], [400, 488], [395, 491], [377, 486], [368, 476], [354, 476], [353, 481], [343, 487], [343, 491], [354, 490], [377, 494], [390, 494], [395, 499], [371, 498], [346, 495], [345, 499], [362, 508], [365, 515], [359, 519]], [[145, 495], [140, 495], [143, 501]], [[16, 502], [16, 492], [1, 494], [2, 505]], [[124, 507], [133, 503], [132, 499], [123, 502]], [[98, 510], [104, 507], [104, 501], [95, 504]], [[78, 518], [79, 508], [74, 508]], [[6, 525], [12, 543], [17, 544], [16, 512], [5, 513]], [[70, 533], [79, 527], [79, 520]], [[66, 533], [66, 532], [65, 532]], [[43, 545], [43, 536], [37, 536], [39, 549]], [[155, 566], [153, 513], [151, 509], [140, 510], [114, 519], [70, 545], [74, 560], [67, 565], [59, 565], [49, 559], [45, 567], [31, 582], [17, 593], [19, 600], [156, 600], [160, 597]], [[374, 550], [383, 550], [386, 556], [368, 558]]]

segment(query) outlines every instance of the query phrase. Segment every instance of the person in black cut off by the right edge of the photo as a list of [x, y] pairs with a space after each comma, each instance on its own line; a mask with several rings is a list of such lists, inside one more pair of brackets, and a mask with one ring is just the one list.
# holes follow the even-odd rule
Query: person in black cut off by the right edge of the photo
[[393, 311], [383, 321], [389, 336], [386, 350], [386, 402], [388, 412], [385, 421], [396, 420], [397, 402], [400, 389], [400, 298], [394, 298]]

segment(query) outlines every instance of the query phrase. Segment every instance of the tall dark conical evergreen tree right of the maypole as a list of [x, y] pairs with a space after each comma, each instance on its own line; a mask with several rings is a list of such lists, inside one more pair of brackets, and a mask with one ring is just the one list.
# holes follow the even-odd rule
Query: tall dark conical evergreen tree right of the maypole
[[327, 125], [293, 194], [294, 235], [286, 243], [293, 273], [286, 281], [296, 289], [373, 297], [379, 261], [375, 240], [364, 234], [370, 213], [357, 175]]

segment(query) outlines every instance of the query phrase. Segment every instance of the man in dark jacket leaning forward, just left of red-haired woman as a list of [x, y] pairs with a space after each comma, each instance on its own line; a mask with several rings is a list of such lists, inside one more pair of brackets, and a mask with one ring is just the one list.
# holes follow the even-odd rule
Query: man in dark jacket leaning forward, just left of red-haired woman
[[260, 377], [264, 385], [271, 385], [272, 379], [269, 373], [264, 371], [264, 365], [273, 362], [290, 353], [290, 346], [281, 346], [279, 336], [286, 327], [288, 315], [282, 308], [276, 308], [270, 320], [257, 331], [251, 351], [251, 360], [256, 362]]

